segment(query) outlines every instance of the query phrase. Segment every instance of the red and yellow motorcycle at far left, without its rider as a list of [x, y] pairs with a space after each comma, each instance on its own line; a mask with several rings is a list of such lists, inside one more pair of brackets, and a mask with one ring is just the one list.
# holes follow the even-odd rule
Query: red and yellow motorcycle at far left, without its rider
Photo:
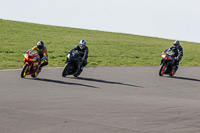
[[[41, 61], [45, 60], [44, 57]], [[39, 74], [40, 67], [40, 56], [37, 50], [28, 50], [24, 54], [24, 65], [21, 72], [21, 77], [25, 78], [26, 75], [31, 75], [31, 77], [35, 78]]]

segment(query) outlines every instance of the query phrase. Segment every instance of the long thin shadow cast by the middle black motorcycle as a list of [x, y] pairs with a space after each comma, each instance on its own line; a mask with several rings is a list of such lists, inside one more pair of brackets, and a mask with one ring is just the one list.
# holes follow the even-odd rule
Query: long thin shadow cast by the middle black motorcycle
[[113, 81], [106, 81], [106, 80], [94, 79], [94, 78], [77, 77], [77, 78], [73, 78], [73, 79], [85, 80], [85, 81], [93, 81], [93, 82], [106, 83], [106, 84], [117, 84], [117, 85], [125, 85], [125, 86], [130, 86], [130, 87], [144, 88], [142, 86], [125, 84], [125, 83], [120, 83], [120, 82], [113, 82]]

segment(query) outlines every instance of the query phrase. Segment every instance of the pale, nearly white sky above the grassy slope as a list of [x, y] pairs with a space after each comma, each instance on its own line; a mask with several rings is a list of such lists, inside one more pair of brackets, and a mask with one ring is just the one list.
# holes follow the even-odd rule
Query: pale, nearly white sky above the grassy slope
[[200, 43], [200, 0], [0, 0], [0, 19]]

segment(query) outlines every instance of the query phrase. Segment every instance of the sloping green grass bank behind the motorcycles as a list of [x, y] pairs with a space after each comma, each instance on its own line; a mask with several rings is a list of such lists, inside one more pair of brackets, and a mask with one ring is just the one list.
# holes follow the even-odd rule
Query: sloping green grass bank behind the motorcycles
[[[88, 66], [158, 66], [161, 52], [174, 40], [16, 22], [0, 19], [0, 69], [22, 68], [22, 54], [44, 41], [48, 67], [63, 67], [66, 52], [81, 39], [89, 48]], [[182, 66], [200, 65], [200, 44], [181, 41]]]

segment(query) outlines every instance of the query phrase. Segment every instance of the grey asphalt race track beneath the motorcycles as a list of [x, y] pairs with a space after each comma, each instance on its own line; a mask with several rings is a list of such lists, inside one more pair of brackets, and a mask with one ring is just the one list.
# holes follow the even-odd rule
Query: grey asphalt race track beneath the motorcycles
[[200, 67], [0, 71], [0, 133], [200, 133]]

